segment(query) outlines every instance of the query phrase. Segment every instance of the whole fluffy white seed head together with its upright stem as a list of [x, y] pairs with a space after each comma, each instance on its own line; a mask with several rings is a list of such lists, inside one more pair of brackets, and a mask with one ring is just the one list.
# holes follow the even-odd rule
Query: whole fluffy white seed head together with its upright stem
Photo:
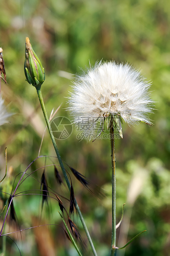
[[[77, 76], [69, 97], [74, 123], [89, 139], [99, 137], [108, 121], [111, 137], [112, 165], [112, 238], [110, 256], [116, 255], [116, 166], [114, 129], [123, 137], [121, 123], [142, 121], [152, 125], [148, 114], [153, 110], [149, 87], [141, 73], [130, 64], [98, 62], [87, 73]], [[107, 123], [107, 124], [108, 124]], [[114, 123], [114, 126], [113, 126]], [[96, 133], [97, 131], [97, 133]]]

